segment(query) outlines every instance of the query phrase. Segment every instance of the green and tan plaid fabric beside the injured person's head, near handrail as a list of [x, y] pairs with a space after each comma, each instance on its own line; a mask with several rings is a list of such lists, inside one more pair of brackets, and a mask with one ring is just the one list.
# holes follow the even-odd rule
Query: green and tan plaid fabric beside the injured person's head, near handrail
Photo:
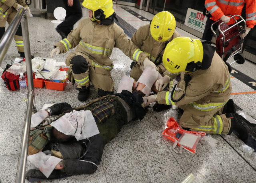
[[28, 154], [36, 154], [42, 151], [51, 139], [52, 126], [48, 125], [30, 132], [28, 142]]

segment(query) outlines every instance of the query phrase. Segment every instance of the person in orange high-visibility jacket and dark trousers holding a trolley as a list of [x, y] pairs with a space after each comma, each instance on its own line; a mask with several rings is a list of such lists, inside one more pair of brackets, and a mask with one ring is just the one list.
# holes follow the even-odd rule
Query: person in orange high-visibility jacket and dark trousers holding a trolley
[[[202, 39], [211, 41], [213, 33], [211, 25], [221, 19], [224, 23], [232, 25], [235, 20], [230, 19], [230, 15], [241, 15], [244, 4], [246, 3], [246, 31], [240, 34], [244, 38], [256, 24], [256, 1], [255, 0], [205, 0], [205, 8], [210, 13], [204, 29]], [[238, 17], [235, 17], [238, 18]]]

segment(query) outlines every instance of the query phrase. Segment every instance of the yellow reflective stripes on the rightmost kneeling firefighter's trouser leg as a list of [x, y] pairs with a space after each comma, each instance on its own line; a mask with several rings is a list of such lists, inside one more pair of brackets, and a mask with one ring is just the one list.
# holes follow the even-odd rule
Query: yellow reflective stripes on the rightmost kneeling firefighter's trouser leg
[[213, 133], [215, 133], [215, 134], [222, 133], [222, 131], [223, 131], [223, 121], [222, 121], [220, 115], [212, 116], [212, 119], [214, 121], [214, 125], [212, 125], [212, 126], [202, 125], [198, 128], [193, 128], [193, 129], [201, 130], [201, 131], [213, 131]]

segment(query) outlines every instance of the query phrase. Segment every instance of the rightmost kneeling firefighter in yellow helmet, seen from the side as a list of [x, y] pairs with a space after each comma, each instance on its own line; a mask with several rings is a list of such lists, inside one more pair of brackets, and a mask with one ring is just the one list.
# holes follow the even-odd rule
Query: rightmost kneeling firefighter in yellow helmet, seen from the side
[[236, 130], [240, 139], [247, 139], [248, 132], [239, 115], [228, 105], [230, 74], [214, 46], [207, 41], [178, 37], [166, 46], [163, 62], [169, 74], [156, 81], [156, 88], [161, 90], [180, 73], [180, 90], [175, 90], [175, 85], [172, 91], [144, 97], [147, 105], [158, 101], [178, 106], [184, 111], [179, 121], [183, 128], [228, 135]]

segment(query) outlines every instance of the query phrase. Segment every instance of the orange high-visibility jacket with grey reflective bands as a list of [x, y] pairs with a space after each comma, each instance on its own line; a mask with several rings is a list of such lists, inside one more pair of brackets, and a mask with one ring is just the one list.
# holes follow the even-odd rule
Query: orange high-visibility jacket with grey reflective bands
[[[212, 20], [217, 21], [223, 15], [241, 15], [244, 3], [246, 3], [246, 26], [253, 28], [256, 24], [255, 0], [205, 0], [204, 6], [212, 15]], [[234, 23], [236, 22], [232, 18], [227, 24]]]

